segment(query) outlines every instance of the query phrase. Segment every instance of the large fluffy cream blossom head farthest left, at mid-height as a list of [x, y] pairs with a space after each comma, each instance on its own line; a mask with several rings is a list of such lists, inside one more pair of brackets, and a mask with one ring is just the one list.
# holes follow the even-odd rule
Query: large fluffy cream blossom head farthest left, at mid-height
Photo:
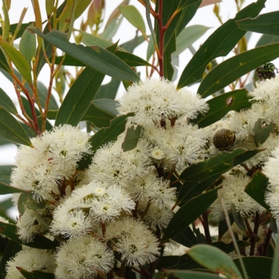
[[63, 179], [75, 174], [77, 162], [91, 153], [89, 135], [77, 127], [63, 125], [31, 139], [33, 147], [20, 146], [11, 184], [30, 190], [34, 199], [50, 199]]

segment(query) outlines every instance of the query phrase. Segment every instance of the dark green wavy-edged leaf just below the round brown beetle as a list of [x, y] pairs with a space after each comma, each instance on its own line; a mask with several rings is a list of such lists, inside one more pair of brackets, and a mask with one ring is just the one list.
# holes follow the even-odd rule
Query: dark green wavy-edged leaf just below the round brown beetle
[[223, 151], [206, 161], [191, 165], [183, 170], [179, 179], [185, 181], [204, 181], [211, 176], [223, 174], [235, 165], [248, 160], [260, 152], [259, 150], [247, 151], [245, 149], [234, 149], [232, 152]]

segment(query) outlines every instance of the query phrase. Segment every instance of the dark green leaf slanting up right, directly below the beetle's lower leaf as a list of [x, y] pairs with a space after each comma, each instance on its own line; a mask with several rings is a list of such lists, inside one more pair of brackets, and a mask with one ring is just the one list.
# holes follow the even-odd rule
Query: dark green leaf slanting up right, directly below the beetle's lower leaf
[[217, 199], [217, 190], [215, 188], [202, 195], [190, 199], [174, 214], [170, 220], [163, 240], [171, 239], [172, 236], [183, 232], [183, 230], [193, 223], [202, 213], [209, 208], [209, 206]]

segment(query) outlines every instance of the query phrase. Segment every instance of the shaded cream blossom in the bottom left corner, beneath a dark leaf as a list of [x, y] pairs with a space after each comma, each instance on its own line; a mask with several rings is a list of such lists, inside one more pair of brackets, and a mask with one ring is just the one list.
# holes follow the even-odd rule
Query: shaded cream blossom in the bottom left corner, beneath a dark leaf
[[17, 252], [15, 257], [7, 262], [6, 279], [24, 279], [24, 276], [17, 270], [17, 267], [21, 267], [29, 272], [37, 270], [53, 273], [55, 266], [52, 251], [24, 246], [23, 250]]

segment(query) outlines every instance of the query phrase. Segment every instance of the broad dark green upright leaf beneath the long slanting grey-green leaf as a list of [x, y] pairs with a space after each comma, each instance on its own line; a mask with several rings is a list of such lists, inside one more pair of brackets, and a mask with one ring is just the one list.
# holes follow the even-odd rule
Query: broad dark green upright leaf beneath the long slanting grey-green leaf
[[63, 123], [77, 126], [89, 109], [89, 102], [96, 96], [104, 77], [105, 75], [102, 73], [86, 67], [70, 87], [66, 98], [63, 100], [56, 116], [55, 126]]

